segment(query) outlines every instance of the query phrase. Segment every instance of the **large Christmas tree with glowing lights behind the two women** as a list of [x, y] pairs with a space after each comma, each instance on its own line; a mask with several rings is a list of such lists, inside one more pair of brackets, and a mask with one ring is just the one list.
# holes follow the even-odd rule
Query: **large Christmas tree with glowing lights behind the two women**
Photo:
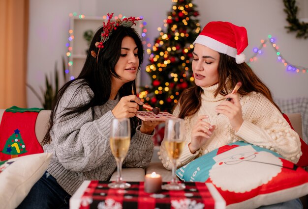
[[158, 28], [159, 36], [147, 52], [150, 64], [146, 72], [152, 85], [139, 93], [145, 104], [171, 112], [182, 91], [194, 83], [191, 72], [193, 41], [200, 33], [199, 15], [192, 0], [172, 0], [172, 10], [164, 20], [165, 31]]

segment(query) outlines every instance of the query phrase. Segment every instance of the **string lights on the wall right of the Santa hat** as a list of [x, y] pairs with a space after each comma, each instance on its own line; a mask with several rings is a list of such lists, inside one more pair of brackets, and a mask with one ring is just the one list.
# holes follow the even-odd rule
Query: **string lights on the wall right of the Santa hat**
[[279, 52], [279, 47], [276, 44], [276, 39], [274, 37], [272, 37], [272, 35], [268, 35], [266, 40], [261, 40], [261, 44], [259, 47], [254, 47], [252, 49], [252, 52], [254, 52], [254, 54], [249, 58], [249, 60], [247, 61], [247, 64], [250, 65], [250, 63], [257, 61], [257, 56], [262, 54], [262, 50], [263, 48], [265, 48], [267, 46], [267, 42], [269, 41], [269, 44], [273, 47], [273, 49], [276, 52], [277, 55], [277, 60], [279, 62], [281, 62], [284, 66], [287, 72], [294, 72], [294, 73], [308, 73], [308, 68], [307, 67], [303, 67], [303, 66], [298, 66], [298, 65], [294, 65], [291, 64], [290, 62], [288, 62], [281, 54], [281, 52]]

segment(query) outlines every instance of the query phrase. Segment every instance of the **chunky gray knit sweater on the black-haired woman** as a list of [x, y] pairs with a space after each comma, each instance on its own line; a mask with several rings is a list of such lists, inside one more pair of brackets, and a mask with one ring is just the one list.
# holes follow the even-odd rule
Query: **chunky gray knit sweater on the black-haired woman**
[[[44, 146], [44, 152], [53, 153], [47, 171], [70, 195], [84, 180], [109, 181], [117, 168], [110, 150], [109, 130], [114, 118], [111, 110], [120, 101], [119, 96], [73, 118], [59, 119], [67, 111], [65, 107], [88, 103], [93, 95], [91, 88], [81, 86], [80, 81], [67, 88], [55, 113], [55, 124], [50, 131], [52, 142]], [[140, 126], [131, 138], [123, 167], [144, 168], [151, 161], [153, 135], [141, 133], [139, 129]]]

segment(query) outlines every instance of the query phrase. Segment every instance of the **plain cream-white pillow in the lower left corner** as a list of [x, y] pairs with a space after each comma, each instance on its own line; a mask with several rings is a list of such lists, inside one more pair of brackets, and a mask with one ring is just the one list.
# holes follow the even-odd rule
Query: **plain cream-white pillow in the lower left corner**
[[[15, 209], [44, 174], [52, 153], [40, 153], [0, 161], [0, 203]], [[1, 208], [1, 207], [0, 207]]]

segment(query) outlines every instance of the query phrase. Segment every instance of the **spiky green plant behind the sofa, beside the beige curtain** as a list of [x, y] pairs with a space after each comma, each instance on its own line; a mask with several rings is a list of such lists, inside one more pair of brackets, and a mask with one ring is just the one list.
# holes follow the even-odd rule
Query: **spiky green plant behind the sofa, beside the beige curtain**
[[[64, 82], [66, 82], [67, 74], [65, 73], [65, 59], [63, 56], [62, 56], [62, 73]], [[54, 84], [52, 83], [53, 81]], [[42, 92], [43, 97], [41, 97], [29, 83], [27, 83], [26, 85], [37, 97], [39, 102], [42, 104], [43, 108], [50, 110], [52, 108], [53, 101], [59, 91], [59, 70], [57, 61], [55, 63], [54, 79], [52, 78], [52, 73], [50, 74], [50, 77], [48, 77], [48, 75], [45, 75], [45, 89], [40, 86], [40, 90]]]

